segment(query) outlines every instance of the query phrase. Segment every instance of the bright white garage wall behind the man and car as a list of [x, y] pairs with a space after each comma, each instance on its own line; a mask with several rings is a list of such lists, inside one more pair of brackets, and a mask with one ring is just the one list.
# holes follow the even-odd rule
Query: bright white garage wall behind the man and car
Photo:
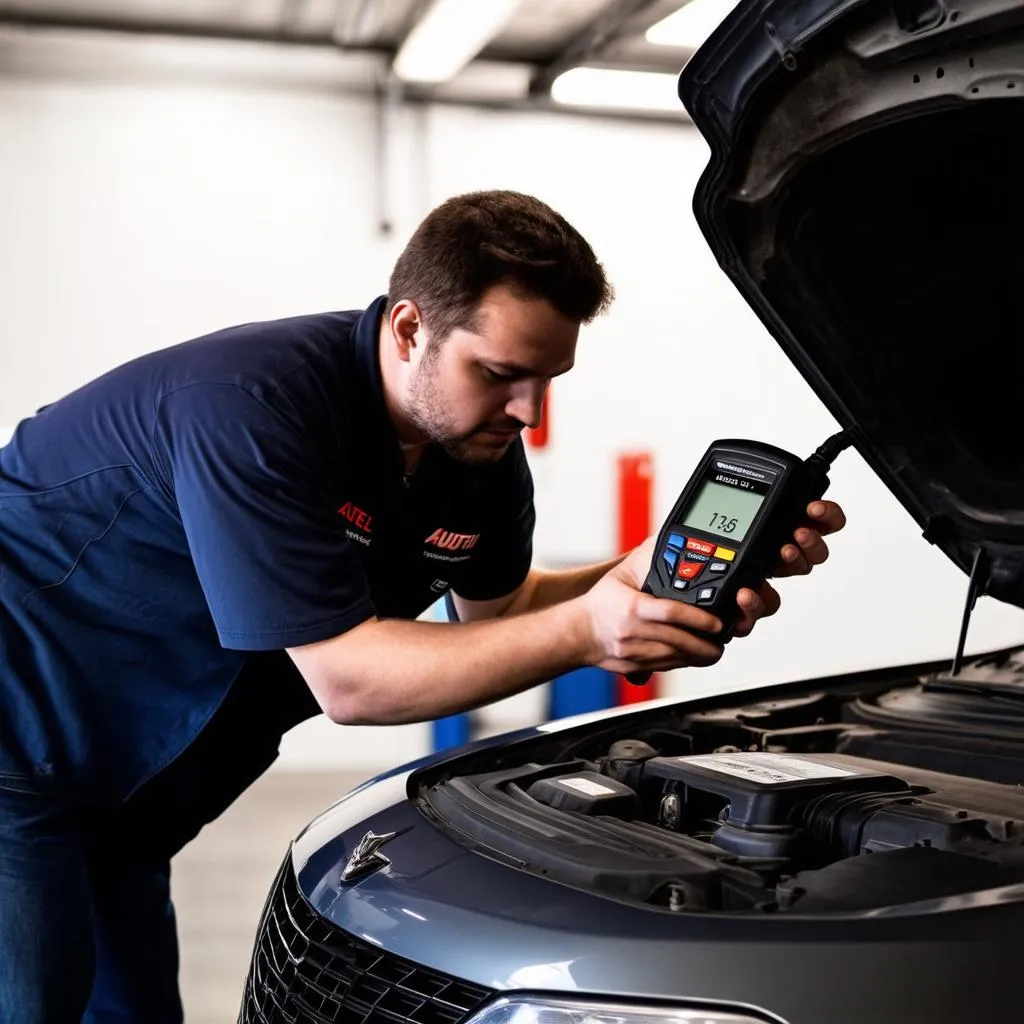
[[[654, 454], [664, 515], [715, 437], [804, 453], [835, 429], [696, 229], [690, 197], [706, 148], [686, 126], [404, 111], [390, 164], [395, 231], [385, 238], [376, 226], [373, 105], [332, 91], [327, 72], [304, 86], [212, 76], [211, 60], [229, 68], [248, 54], [251, 71], [253, 56], [207, 45], [207, 72], [193, 75], [196, 44], [132, 40], [104, 43], [101, 61], [94, 52], [86, 59], [88, 46], [61, 44], [28, 73], [27, 46], [8, 42], [6, 61], [0, 46], [0, 424], [198, 333], [359, 306], [383, 291], [430, 206], [466, 189], [513, 187], [564, 213], [617, 290], [610, 315], [585, 331], [577, 369], [555, 385], [552, 449], [532, 456], [539, 561], [613, 553], [617, 452]], [[694, 392], [699, 379], [707, 387]], [[833, 480], [850, 516], [833, 561], [809, 581], [783, 582], [777, 618], [714, 669], [673, 674], [668, 692], [951, 653], [963, 575], [858, 456], [847, 453]], [[906, 581], [900, 590], [893, 565]], [[1018, 610], [983, 600], [969, 649], [1022, 635]], [[543, 694], [528, 694], [490, 710], [483, 724], [542, 714]], [[369, 770], [417, 756], [428, 735], [425, 726], [315, 722], [288, 737], [283, 762]]]

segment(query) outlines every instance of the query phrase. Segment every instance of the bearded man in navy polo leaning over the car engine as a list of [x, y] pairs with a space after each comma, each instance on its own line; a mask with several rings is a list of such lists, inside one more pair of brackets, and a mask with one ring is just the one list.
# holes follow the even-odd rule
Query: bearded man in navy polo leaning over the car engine
[[[530, 567], [519, 433], [610, 289], [514, 193], [449, 201], [364, 312], [143, 356], [0, 451], [0, 1021], [180, 1020], [169, 861], [323, 710], [433, 719], [567, 670], [711, 665], [625, 560]], [[805, 572], [843, 525], [781, 552]], [[417, 622], [449, 591], [460, 623]], [[778, 606], [739, 597], [744, 635]], [[344, 734], [339, 734], [344, 741]]]

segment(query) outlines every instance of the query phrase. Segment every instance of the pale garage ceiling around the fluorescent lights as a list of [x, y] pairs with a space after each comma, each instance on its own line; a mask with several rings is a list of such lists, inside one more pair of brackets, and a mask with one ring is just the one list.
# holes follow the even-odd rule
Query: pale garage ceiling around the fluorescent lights
[[[479, 54], [476, 66], [471, 65], [461, 77], [467, 82], [480, 83], [481, 68], [496, 69], [500, 77], [503, 65], [515, 67], [526, 72], [530, 91], [541, 96], [559, 72], [580, 63], [677, 74], [689, 51], [647, 43], [644, 33], [683, 2], [520, 0], [516, 13]], [[429, 3], [430, 0], [0, 0], [0, 26], [321, 45], [377, 54], [386, 63]], [[443, 94], [444, 90], [418, 86], [412, 91]]]

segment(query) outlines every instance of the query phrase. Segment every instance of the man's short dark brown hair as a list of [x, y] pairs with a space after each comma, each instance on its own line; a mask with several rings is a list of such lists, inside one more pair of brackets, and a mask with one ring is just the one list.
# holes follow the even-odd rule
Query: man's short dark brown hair
[[395, 263], [388, 311], [400, 299], [420, 307], [431, 335], [472, 330], [480, 298], [508, 285], [588, 324], [612, 289], [587, 240], [546, 203], [515, 191], [456, 196], [432, 210]]

